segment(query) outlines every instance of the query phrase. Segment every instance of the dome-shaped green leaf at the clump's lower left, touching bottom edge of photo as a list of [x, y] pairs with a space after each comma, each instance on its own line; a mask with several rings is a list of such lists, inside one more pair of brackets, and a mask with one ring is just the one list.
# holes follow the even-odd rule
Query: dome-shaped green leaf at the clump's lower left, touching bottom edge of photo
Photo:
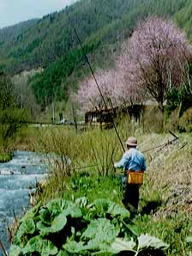
[[34, 236], [27, 242], [26, 247], [23, 248], [23, 254], [39, 253], [41, 256], [56, 255], [58, 252], [57, 247], [41, 236]]

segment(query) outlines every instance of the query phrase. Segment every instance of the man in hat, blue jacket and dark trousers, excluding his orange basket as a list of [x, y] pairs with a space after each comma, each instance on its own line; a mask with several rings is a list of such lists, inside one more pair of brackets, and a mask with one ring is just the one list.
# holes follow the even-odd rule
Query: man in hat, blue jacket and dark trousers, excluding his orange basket
[[120, 162], [114, 164], [115, 168], [123, 168], [123, 204], [125, 207], [132, 211], [136, 212], [138, 210], [139, 204], [139, 189], [140, 185], [138, 184], [129, 184], [128, 183], [128, 172], [144, 172], [146, 171], [146, 160], [145, 156], [137, 150], [137, 140], [135, 137], [129, 137], [126, 141], [127, 151], [123, 154], [123, 157]]

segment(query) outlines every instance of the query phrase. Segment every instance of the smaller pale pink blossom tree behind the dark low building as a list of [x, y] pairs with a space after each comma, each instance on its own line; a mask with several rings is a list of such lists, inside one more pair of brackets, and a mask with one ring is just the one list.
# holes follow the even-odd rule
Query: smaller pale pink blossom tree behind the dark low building
[[[125, 106], [128, 103], [141, 101], [141, 90], [132, 86], [126, 79], [123, 69], [98, 70], [95, 74], [99, 88], [107, 107]], [[83, 80], [73, 101], [78, 102], [83, 111], [105, 107], [93, 76]]]

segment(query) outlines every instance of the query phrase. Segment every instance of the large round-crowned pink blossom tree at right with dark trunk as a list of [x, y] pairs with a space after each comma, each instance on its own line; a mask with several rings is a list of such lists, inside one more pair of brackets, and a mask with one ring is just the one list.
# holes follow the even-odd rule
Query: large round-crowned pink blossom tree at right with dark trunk
[[190, 56], [185, 34], [171, 21], [150, 18], [140, 23], [119, 59], [129, 88], [151, 94], [164, 112], [171, 88], [185, 79]]

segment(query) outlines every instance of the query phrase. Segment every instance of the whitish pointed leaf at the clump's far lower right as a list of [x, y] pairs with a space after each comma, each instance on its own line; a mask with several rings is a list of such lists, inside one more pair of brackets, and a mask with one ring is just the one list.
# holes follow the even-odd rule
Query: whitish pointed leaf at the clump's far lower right
[[159, 238], [151, 235], [140, 235], [138, 237], [138, 250], [141, 251], [144, 248], [154, 248], [154, 249], [167, 249], [169, 247], [164, 241], [159, 240]]

